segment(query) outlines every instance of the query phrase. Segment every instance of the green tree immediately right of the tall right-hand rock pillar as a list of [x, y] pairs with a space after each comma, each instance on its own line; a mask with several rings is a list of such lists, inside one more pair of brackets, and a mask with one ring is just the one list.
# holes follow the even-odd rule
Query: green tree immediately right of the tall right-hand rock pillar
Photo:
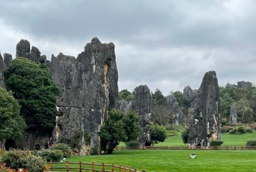
[[228, 117], [230, 115], [231, 105], [234, 104], [234, 101], [228, 92], [224, 93], [224, 95], [220, 98], [220, 103], [221, 103], [222, 116], [226, 117], [226, 119], [228, 120]]

